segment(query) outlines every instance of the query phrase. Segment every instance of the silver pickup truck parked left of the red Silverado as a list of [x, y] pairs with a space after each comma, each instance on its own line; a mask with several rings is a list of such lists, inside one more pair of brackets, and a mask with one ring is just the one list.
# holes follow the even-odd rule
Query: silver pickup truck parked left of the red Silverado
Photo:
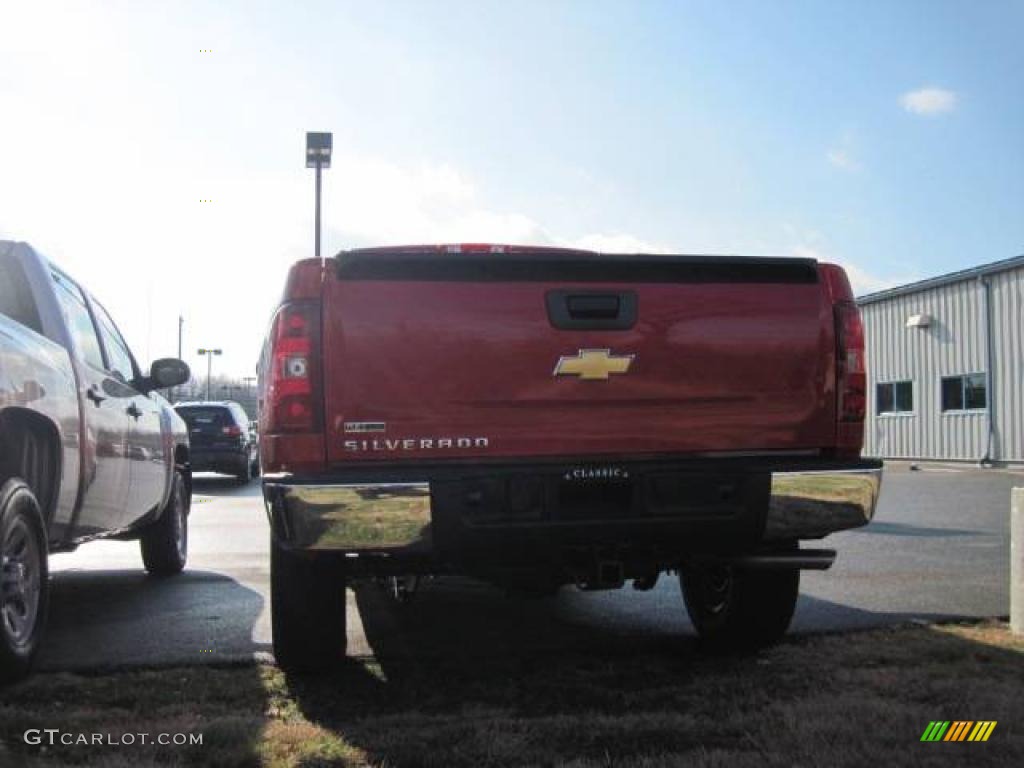
[[0, 241], [0, 682], [39, 648], [49, 553], [137, 539], [151, 573], [184, 567], [188, 437], [156, 390], [188, 376], [174, 358], [141, 374], [89, 293]]

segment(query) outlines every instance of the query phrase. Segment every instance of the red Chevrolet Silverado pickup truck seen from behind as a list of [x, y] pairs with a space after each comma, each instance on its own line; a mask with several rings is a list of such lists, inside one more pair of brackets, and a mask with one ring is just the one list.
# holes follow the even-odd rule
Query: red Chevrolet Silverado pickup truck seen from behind
[[781, 636], [801, 540], [867, 523], [864, 338], [808, 259], [492, 245], [289, 274], [260, 362], [279, 663], [343, 652], [344, 585], [527, 591], [678, 572], [710, 646]]

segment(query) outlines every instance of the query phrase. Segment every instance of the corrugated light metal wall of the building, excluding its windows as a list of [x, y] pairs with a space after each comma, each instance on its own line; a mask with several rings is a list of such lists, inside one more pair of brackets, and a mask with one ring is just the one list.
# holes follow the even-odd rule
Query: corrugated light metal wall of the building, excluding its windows
[[[1024, 461], [1024, 269], [987, 278], [991, 286], [994, 438], [991, 459]], [[984, 299], [977, 279], [861, 306], [867, 343], [864, 454], [977, 461], [985, 454], [984, 412], [942, 413], [943, 376], [985, 373]], [[913, 314], [928, 328], [907, 328]], [[913, 412], [879, 415], [876, 384], [913, 382]]]

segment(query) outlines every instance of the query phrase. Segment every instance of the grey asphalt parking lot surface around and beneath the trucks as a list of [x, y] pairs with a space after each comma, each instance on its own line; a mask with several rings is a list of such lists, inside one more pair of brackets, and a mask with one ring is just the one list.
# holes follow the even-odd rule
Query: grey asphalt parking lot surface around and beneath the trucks
[[[887, 469], [876, 521], [834, 536], [836, 566], [805, 572], [797, 633], [1006, 615], [1010, 489], [1024, 473]], [[52, 603], [39, 668], [80, 670], [268, 657], [267, 525], [258, 482], [197, 478], [189, 564], [145, 575], [138, 547], [103, 542], [51, 559]], [[662, 646], [692, 638], [674, 579], [655, 589], [546, 599], [462, 580], [410, 604], [373, 585], [349, 592], [349, 653], [501, 653], [577, 645]]]

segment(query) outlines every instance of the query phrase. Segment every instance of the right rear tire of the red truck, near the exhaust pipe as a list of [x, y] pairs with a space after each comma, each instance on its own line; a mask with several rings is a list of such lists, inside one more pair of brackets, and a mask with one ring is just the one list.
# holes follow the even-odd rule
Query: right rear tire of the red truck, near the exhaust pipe
[[690, 621], [711, 651], [752, 651], [781, 638], [800, 594], [800, 571], [741, 570], [728, 565], [679, 573]]

